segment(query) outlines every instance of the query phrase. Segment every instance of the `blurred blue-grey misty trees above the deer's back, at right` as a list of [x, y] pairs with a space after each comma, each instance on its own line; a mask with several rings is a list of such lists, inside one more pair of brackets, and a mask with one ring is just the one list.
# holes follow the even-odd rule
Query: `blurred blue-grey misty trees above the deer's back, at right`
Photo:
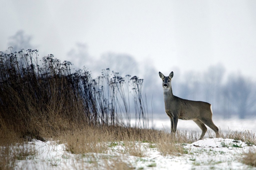
[[181, 98], [211, 103], [214, 114], [225, 118], [255, 116], [255, 82], [239, 73], [230, 74], [225, 80], [224, 70], [216, 65], [201, 74], [191, 72], [183, 82], [174, 82], [174, 90]]

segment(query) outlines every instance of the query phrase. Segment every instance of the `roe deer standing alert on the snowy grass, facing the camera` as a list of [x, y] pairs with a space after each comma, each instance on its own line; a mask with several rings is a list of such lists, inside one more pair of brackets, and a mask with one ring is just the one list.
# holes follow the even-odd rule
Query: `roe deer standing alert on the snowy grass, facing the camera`
[[205, 136], [207, 131], [205, 124], [214, 130], [216, 137], [218, 137], [219, 129], [212, 122], [211, 104], [203, 101], [186, 100], [174, 96], [171, 85], [173, 72], [171, 72], [168, 77], [159, 72], [159, 76], [163, 80], [165, 112], [170, 117], [172, 133], [175, 134], [176, 132], [178, 119], [182, 119], [193, 120], [200, 127], [202, 134], [199, 140]]

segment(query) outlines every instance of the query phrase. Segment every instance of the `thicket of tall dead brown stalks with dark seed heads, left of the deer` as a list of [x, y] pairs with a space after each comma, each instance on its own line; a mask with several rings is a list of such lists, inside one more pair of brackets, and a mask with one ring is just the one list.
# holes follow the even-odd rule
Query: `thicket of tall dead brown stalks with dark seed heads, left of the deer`
[[73, 126], [131, 126], [132, 112], [138, 127], [147, 126], [142, 79], [109, 69], [93, 79], [52, 54], [41, 62], [38, 50], [0, 52], [0, 127], [44, 140]]

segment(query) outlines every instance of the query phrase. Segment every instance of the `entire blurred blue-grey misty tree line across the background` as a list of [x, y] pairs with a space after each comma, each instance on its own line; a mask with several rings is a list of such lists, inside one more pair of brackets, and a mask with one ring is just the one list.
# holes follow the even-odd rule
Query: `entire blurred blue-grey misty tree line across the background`
[[[33, 48], [30, 41], [31, 36], [18, 31], [10, 37], [8, 45], [18, 51], [21, 48]], [[87, 45], [82, 43], [78, 43], [76, 49], [71, 49], [67, 57], [74, 66], [85, 66], [94, 76], [105, 68], [119, 72], [121, 76], [138, 75], [144, 79], [142, 89], [146, 94], [148, 110], [152, 110], [153, 114], [165, 114], [162, 81], [158, 76], [161, 70], [156, 70], [152, 63], [139, 63], [132, 56], [115, 53], [106, 53], [96, 59], [87, 53]], [[172, 87], [175, 96], [209, 102], [214, 114], [225, 118], [239, 116], [243, 119], [256, 115], [256, 83], [250, 77], [239, 73], [225, 76], [225, 68], [221, 64], [211, 66], [205, 72], [191, 71], [183, 75], [179, 74], [182, 68], [176, 68], [176, 71], [173, 69], [170, 68], [170, 72], [174, 71]]]

